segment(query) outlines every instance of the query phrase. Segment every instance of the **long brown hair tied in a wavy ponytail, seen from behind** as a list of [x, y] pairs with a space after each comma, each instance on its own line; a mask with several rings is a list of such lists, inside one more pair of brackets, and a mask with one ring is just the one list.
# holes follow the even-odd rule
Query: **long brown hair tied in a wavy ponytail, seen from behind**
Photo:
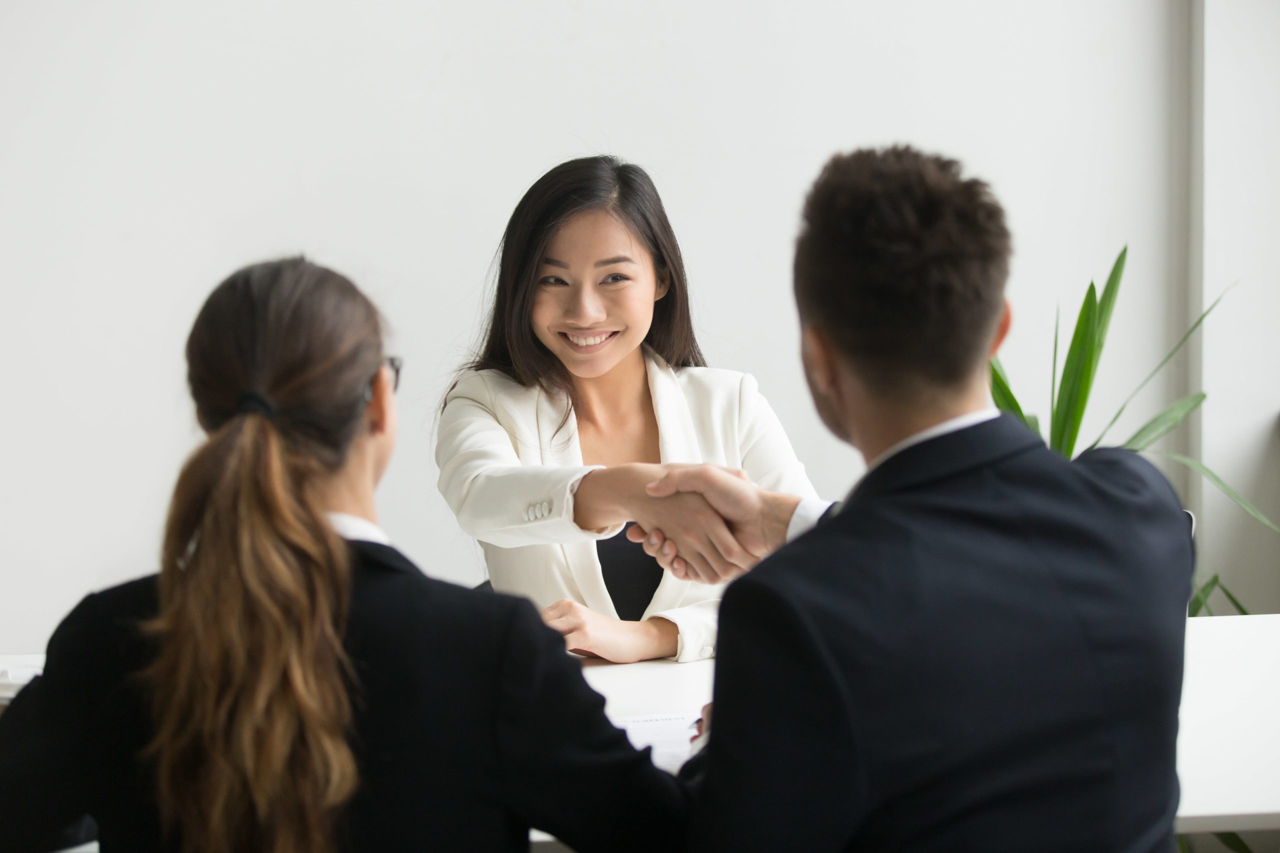
[[186, 853], [324, 853], [356, 790], [347, 547], [314, 486], [346, 460], [381, 358], [369, 299], [302, 258], [232, 275], [191, 331], [209, 440], [174, 490], [143, 674]]

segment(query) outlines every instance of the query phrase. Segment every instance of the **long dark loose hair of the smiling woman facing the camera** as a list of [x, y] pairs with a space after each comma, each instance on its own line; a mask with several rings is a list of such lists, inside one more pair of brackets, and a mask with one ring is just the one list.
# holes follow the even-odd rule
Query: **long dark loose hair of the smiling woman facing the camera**
[[672, 367], [704, 367], [689, 312], [689, 284], [680, 243], [648, 173], [617, 157], [581, 157], [556, 166], [525, 193], [502, 237], [498, 286], [479, 358], [463, 370], [498, 370], [516, 382], [564, 394], [576, 403], [568, 370], [538, 340], [532, 327], [538, 272], [552, 237], [589, 210], [617, 215], [644, 242], [654, 270], [668, 281], [654, 303], [645, 343]]

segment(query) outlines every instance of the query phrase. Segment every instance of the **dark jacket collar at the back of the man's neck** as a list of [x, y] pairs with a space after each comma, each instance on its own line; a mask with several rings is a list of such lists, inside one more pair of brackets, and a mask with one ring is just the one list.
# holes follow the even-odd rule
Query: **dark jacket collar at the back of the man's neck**
[[1041, 437], [1021, 421], [1001, 414], [893, 454], [863, 477], [846, 505], [943, 480], [1015, 453], [1043, 446]]

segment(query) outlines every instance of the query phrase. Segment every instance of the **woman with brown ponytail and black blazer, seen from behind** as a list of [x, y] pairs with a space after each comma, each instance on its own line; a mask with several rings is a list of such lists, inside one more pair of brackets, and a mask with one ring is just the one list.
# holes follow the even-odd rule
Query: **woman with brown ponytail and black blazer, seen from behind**
[[0, 715], [0, 849], [84, 815], [102, 853], [676, 844], [676, 781], [532, 606], [426, 578], [378, 527], [399, 361], [351, 281], [236, 272], [187, 376], [207, 440], [160, 574], [82, 601]]

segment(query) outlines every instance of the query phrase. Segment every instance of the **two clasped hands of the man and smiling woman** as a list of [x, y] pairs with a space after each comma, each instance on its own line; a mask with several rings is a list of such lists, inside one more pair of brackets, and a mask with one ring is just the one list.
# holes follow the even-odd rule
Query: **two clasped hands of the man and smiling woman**
[[741, 471], [663, 466], [645, 486], [627, 538], [677, 578], [724, 583], [782, 547], [800, 499], [760, 489]]

